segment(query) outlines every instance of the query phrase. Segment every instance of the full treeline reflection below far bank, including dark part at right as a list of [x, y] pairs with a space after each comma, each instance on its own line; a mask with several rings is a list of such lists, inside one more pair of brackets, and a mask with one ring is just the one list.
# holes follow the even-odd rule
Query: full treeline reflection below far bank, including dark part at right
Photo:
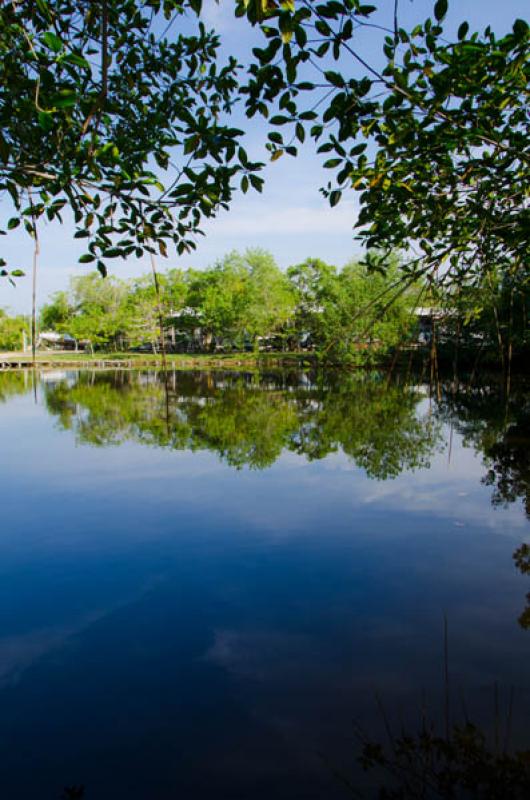
[[[27, 390], [27, 377], [25, 387], [20, 375], [2, 378], [0, 399]], [[341, 450], [382, 480], [428, 467], [446, 444], [441, 423], [449, 422], [482, 453], [492, 503], [521, 498], [530, 516], [530, 393], [523, 383], [506, 399], [495, 378], [458, 391], [448, 381], [423, 410], [426, 387], [374, 373], [318, 380], [173, 372], [167, 389], [156, 372], [80, 373], [46, 381], [44, 398], [59, 425], [83, 444], [207, 449], [238, 469], [270, 467], [284, 450], [309, 460]]]

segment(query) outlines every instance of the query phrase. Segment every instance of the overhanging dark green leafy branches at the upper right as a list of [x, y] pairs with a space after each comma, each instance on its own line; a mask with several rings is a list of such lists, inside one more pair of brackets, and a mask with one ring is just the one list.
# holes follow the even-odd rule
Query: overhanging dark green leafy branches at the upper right
[[[459, 284], [492, 269], [528, 279], [530, 64], [528, 25], [508, 35], [447, 41], [447, 0], [407, 31], [392, 4], [381, 58], [358, 46], [377, 11], [360, 0], [240, 0], [260, 25], [245, 87], [250, 116], [270, 118], [272, 158], [296, 155], [309, 134], [335, 181], [332, 205], [359, 191], [359, 238], [368, 248], [408, 253], [411, 273]], [[377, 20], [379, 22], [379, 20]], [[386, 35], [384, 35], [386, 34]], [[276, 106], [275, 106], [276, 104]], [[440, 272], [440, 268], [443, 270]]]

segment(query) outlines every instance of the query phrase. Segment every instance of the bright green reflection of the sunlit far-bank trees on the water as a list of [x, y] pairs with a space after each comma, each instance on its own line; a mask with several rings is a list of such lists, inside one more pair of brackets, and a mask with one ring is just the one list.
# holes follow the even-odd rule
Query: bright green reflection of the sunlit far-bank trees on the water
[[168, 409], [160, 374], [95, 373], [44, 385], [50, 413], [77, 441], [135, 441], [207, 449], [232, 467], [270, 467], [284, 451], [322, 459], [341, 450], [373, 478], [427, 467], [440, 423], [418, 387], [381, 375], [172, 373]]

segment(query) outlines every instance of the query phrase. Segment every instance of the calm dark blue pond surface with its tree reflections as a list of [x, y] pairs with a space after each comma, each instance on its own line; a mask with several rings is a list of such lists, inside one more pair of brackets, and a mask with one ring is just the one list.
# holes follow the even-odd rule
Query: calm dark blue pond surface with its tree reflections
[[444, 615], [451, 718], [530, 747], [527, 389], [0, 375], [0, 797], [352, 796]]

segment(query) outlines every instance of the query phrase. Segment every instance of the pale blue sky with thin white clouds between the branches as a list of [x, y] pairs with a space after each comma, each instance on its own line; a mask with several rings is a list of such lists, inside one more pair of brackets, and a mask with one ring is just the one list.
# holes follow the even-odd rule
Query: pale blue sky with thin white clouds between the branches
[[[467, 19], [473, 29], [491, 25], [502, 34], [511, 28], [517, 17], [528, 17], [525, 0], [450, 0], [446, 31], [450, 35], [460, 22]], [[204, 0], [206, 22], [216, 27], [222, 35], [226, 53], [233, 53], [245, 61], [256, 43], [257, 32], [232, 17], [232, 0]], [[401, 0], [400, 24], [407, 28], [423, 21], [432, 14], [430, 0]], [[381, 22], [388, 21], [393, 14], [393, 0], [381, 0]], [[372, 63], [377, 62], [380, 50], [379, 36], [363, 32], [361, 47]], [[238, 120], [240, 124], [242, 120]], [[265, 128], [258, 120], [245, 123], [248, 129], [247, 148], [252, 158], [265, 160], [263, 144]], [[178, 258], [170, 254], [163, 260], [161, 268], [204, 268], [222, 257], [226, 252], [247, 247], [263, 247], [270, 250], [282, 268], [302, 261], [308, 256], [322, 258], [338, 266], [358, 255], [359, 245], [353, 239], [357, 203], [354, 194], [330, 209], [322, 198], [319, 187], [329, 180], [320, 161], [312, 152], [311, 144], [301, 149], [297, 159], [283, 157], [268, 164], [265, 172], [263, 194], [237, 194], [229, 212], [203, 226], [206, 233], [199, 238], [198, 248], [190, 256]], [[8, 213], [2, 208], [2, 215]], [[72, 238], [73, 228], [69, 222], [63, 226], [54, 224], [41, 233], [41, 259], [38, 286], [39, 304], [51, 293], [66, 287], [72, 275], [84, 274], [87, 267], [78, 264], [82, 246]], [[23, 233], [15, 231], [2, 239], [2, 257], [10, 266], [25, 269], [31, 266], [32, 243]], [[145, 260], [117, 260], [112, 264], [113, 273], [120, 277], [133, 277], [149, 269]], [[19, 279], [16, 287], [7, 281], [0, 282], [0, 307], [28, 313], [31, 307], [29, 274]]]

